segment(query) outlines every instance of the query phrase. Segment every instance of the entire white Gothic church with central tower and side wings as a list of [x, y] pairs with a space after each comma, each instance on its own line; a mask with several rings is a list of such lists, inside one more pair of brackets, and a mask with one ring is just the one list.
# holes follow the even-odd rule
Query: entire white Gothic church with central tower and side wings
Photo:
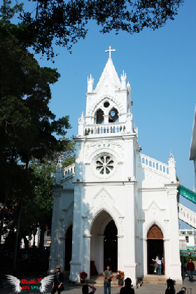
[[109, 59], [99, 83], [87, 79], [86, 111], [78, 120], [76, 163], [57, 164], [49, 271], [56, 265], [79, 281], [111, 269], [137, 280], [162, 274], [181, 283], [176, 167], [141, 154], [133, 125], [130, 83]]

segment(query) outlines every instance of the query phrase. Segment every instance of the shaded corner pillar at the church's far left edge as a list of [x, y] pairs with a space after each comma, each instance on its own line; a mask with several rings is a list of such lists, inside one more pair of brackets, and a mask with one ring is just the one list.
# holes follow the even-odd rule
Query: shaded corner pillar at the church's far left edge
[[60, 215], [60, 197], [62, 186], [55, 185], [53, 187], [53, 210], [52, 210], [52, 228], [51, 228], [51, 246], [48, 273], [55, 272], [58, 264], [58, 240], [59, 240], [59, 215]]

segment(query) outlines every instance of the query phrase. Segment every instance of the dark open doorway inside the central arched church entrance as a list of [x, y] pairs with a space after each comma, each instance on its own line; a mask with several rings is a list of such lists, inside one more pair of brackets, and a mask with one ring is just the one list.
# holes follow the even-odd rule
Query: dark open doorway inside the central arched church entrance
[[106, 225], [104, 231], [104, 269], [109, 265], [113, 272], [118, 270], [118, 234], [114, 221]]

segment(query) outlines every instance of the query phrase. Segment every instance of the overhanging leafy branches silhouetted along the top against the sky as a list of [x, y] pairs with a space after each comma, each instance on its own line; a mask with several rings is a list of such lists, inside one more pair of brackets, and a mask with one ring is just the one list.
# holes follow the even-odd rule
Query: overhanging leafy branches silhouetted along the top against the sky
[[[18, 26], [13, 25], [13, 31], [22, 43], [33, 45], [36, 53], [46, 53], [49, 59], [55, 56], [54, 43], [71, 50], [74, 43], [85, 38], [89, 20], [95, 20], [102, 27], [103, 34], [112, 30], [116, 34], [120, 30], [134, 34], [147, 27], [154, 30], [164, 26], [167, 20], [174, 20], [184, 0], [29, 1], [35, 2], [36, 8], [21, 12], [22, 22]], [[8, 0], [3, 2], [6, 6]], [[3, 11], [5, 13], [5, 8]], [[10, 18], [9, 10], [8, 16]]]

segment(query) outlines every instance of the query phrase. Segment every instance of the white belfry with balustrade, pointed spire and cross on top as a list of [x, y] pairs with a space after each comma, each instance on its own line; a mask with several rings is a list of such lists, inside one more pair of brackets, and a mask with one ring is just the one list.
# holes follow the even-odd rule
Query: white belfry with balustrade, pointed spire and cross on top
[[95, 89], [92, 75], [87, 78], [86, 114], [85, 120], [83, 115], [79, 118], [79, 125], [83, 125], [83, 128], [79, 127], [78, 136], [117, 133], [118, 123], [124, 123], [120, 126], [123, 127], [123, 134], [134, 132], [131, 86], [127, 83], [124, 71], [118, 78], [111, 59], [112, 51], [115, 50], [111, 50], [111, 46], [106, 50], [109, 52], [109, 59]]

